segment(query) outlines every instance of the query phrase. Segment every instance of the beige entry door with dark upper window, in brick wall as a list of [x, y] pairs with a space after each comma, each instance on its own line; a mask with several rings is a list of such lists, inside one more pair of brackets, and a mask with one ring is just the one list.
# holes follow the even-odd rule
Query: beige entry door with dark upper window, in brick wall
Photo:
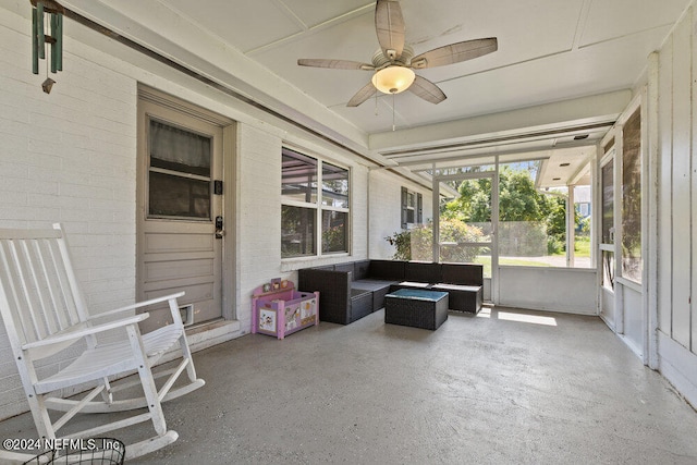
[[[185, 322], [220, 319], [222, 127], [142, 97], [138, 131], [138, 298], [185, 291]], [[168, 314], [151, 310], [145, 327]]]

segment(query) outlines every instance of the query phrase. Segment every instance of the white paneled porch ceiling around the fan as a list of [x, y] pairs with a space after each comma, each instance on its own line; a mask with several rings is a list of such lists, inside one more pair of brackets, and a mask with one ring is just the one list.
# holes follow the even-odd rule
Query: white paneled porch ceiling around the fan
[[[448, 96], [439, 105], [406, 91], [357, 108], [346, 102], [371, 72], [296, 62], [370, 62], [379, 48], [374, 1], [61, 3], [331, 139], [350, 140], [354, 151], [387, 166], [415, 166], [493, 151], [547, 150], [549, 158], [558, 148], [564, 161], [585, 159], [583, 146], [602, 137], [628, 103], [647, 57], [689, 0], [401, 0], [416, 54], [482, 37], [497, 37], [499, 50], [418, 71]], [[589, 137], [573, 140], [584, 133]], [[549, 171], [559, 178], [559, 170]]]

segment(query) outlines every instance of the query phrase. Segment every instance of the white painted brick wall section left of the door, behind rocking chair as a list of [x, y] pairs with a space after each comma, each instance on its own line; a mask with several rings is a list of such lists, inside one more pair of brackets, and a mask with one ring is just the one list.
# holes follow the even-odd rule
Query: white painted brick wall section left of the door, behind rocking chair
[[[0, 20], [0, 227], [63, 223], [93, 310], [125, 305], [135, 295], [136, 82], [66, 47], [65, 71], [44, 94], [22, 25], [28, 32]], [[0, 351], [10, 351], [4, 328]], [[15, 374], [4, 358], [0, 418], [27, 408]]]

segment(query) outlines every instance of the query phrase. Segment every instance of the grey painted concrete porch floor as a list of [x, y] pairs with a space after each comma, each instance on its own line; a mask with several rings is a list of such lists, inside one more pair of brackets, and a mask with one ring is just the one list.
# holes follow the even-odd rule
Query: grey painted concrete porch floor
[[595, 317], [485, 308], [428, 331], [380, 310], [195, 362], [207, 384], [164, 405], [180, 439], [130, 463], [697, 464], [697, 413]]

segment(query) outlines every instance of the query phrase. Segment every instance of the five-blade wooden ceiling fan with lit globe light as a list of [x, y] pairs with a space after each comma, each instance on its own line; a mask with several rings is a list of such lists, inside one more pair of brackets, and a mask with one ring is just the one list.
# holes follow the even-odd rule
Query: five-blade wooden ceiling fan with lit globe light
[[392, 95], [409, 89], [426, 101], [440, 103], [445, 100], [445, 94], [436, 84], [416, 75], [412, 70], [458, 63], [498, 49], [497, 38], [489, 37], [450, 44], [414, 57], [412, 48], [404, 44], [404, 19], [398, 0], [377, 1], [375, 28], [380, 49], [372, 56], [371, 64], [331, 59], [299, 59], [297, 64], [334, 70], [375, 71], [370, 82], [348, 100], [347, 107], [359, 106], [369, 99], [376, 89]]

